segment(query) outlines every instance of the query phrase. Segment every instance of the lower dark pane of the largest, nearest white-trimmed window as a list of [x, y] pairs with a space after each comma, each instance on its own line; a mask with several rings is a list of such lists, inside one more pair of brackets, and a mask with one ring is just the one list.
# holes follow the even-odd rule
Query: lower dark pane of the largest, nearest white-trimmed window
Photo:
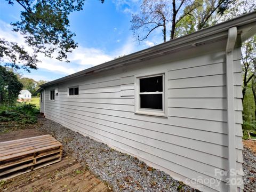
[[141, 94], [140, 108], [163, 110], [163, 95], [162, 94]]

